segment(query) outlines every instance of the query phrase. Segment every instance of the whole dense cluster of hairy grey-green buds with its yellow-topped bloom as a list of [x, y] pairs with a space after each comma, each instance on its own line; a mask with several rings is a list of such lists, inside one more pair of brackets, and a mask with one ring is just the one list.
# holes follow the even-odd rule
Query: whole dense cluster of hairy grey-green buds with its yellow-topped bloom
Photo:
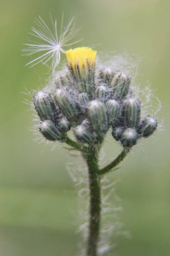
[[73, 62], [69, 54], [68, 70], [56, 75], [52, 86], [34, 95], [40, 132], [46, 139], [65, 141], [72, 129], [80, 143], [94, 145], [103, 141], [111, 127], [114, 139], [130, 148], [140, 137], [155, 131], [154, 117], [140, 117], [140, 100], [130, 94], [129, 75], [97, 70], [94, 60]]

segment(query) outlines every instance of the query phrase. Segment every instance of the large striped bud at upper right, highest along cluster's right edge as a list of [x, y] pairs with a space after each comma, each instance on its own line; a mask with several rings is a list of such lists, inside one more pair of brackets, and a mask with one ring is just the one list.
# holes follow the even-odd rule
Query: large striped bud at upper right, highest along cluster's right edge
[[122, 100], [128, 94], [130, 77], [122, 72], [117, 72], [110, 84], [113, 87], [114, 98]]

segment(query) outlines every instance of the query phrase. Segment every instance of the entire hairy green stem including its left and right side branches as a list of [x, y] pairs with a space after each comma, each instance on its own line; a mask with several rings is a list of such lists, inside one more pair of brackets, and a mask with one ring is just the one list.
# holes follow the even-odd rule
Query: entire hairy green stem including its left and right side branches
[[130, 148], [124, 148], [119, 156], [112, 161], [108, 166], [105, 166], [99, 170], [98, 166], [98, 152], [100, 146], [82, 146], [81, 144], [73, 141], [67, 137], [65, 141], [69, 146], [75, 150], [82, 152], [89, 171], [89, 233], [87, 238], [87, 256], [97, 256], [97, 245], [99, 241], [99, 228], [100, 228], [100, 217], [101, 217], [101, 185], [100, 176], [115, 168], [124, 160]]

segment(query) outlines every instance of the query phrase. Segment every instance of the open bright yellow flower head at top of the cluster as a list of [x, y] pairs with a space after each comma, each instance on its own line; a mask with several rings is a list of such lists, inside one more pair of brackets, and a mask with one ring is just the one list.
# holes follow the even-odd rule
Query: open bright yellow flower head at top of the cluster
[[89, 47], [77, 47], [66, 51], [65, 54], [68, 66], [74, 75], [84, 76], [93, 71], [97, 51]]

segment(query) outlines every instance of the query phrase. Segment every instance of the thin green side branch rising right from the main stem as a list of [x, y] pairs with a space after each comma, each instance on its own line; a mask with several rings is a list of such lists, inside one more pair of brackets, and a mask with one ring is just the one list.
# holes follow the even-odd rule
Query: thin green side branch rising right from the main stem
[[130, 152], [130, 148], [124, 148], [124, 150], [122, 150], [117, 158], [115, 158], [110, 164], [99, 170], [99, 175], [103, 175], [106, 172], [112, 170], [112, 168], [118, 166], [118, 164], [120, 164], [120, 162], [122, 162], [122, 160], [124, 160], [124, 158], [127, 156], [128, 152]]

